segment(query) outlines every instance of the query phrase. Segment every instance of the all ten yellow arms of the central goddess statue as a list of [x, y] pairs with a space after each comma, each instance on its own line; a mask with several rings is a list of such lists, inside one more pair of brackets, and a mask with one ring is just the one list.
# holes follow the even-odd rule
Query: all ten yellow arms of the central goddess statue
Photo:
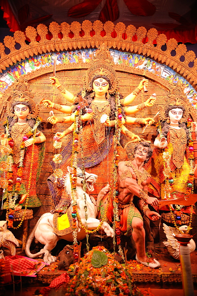
[[[69, 91], [67, 91], [66, 89], [64, 89], [63, 86], [61, 86], [61, 84], [59, 83], [58, 79], [55, 77], [50, 77], [50, 82], [52, 85], [56, 86], [58, 88], [58, 90], [61, 92], [62, 96], [64, 96], [64, 98], [69, 101], [70, 103], [75, 103], [75, 99], [76, 97], [71, 94]], [[129, 104], [131, 104], [133, 102], [133, 100], [136, 98], [136, 96], [140, 93], [140, 91], [143, 89], [143, 86], [147, 86], [148, 85], [148, 80], [147, 79], [143, 79], [142, 81], [140, 81], [139, 86], [128, 96], [126, 96], [124, 99], [121, 99], [121, 103], [124, 106], [127, 106]], [[146, 108], [146, 107], [151, 107], [153, 106], [155, 103], [155, 99], [153, 98], [149, 98], [146, 100], [146, 102], [136, 105], [136, 106], [129, 106], [129, 107], [125, 107], [125, 114], [126, 115], [131, 115], [131, 114], [135, 114], [136, 112]], [[66, 106], [66, 105], [58, 105], [55, 103], [52, 103], [50, 100], [43, 100], [42, 102], [44, 107], [49, 107], [49, 108], [54, 108], [55, 110], [61, 111], [62, 113], [67, 113], [67, 114], [71, 114], [72, 113], [72, 107], [71, 106]], [[82, 121], [86, 121], [86, 120], [91, 120], [93, 116], [93, 113], [87, 113], [82, 115], [81, 120]], [[56, 124], [56, 123], [71, 123], [74, 122], [74, 113], [72, 113], [69, 116], [66, 116], [64, 118], [57, 118], [54, 115], [48, 118], [48, 121], [52, 124]], [[107, 120], [105, 121], [105, 125], [106, 126], [114, 126], [115, 123], [113, 122], [114, 120], [110, 120], [109, 116], [107, 117]], [[130, 116], [126, 116], [126, 120], [122, 120], [122, 127], [121, 127], [121, 133], [123, 133], [124, 135], [130, 137], [131, 139], [133, 139], [134, 141], [138, 141], [140, 140], [139, 136], [133, 134], [131, 131], [129, 131], [125, 126], [124, 123], [131, 125], [131, 124], [135, 124], [135, 123], [139, 123], [139, 124], [148, 124], [151, 125], [152, 123], [154, 123], [154, 119], [148, 117], [148, 118], [133, 118]], [[74, 129], [74, 125], [72, 124], [68, 129], [66, 129], [66, 131], [64, 131], [63, 133], [57, 133], [56, 135], [59, 136], [60, 138], [63, 138], [64, 136], [66, 136], [68, 133], [70, 133], [71, 131], [73, 131]]]

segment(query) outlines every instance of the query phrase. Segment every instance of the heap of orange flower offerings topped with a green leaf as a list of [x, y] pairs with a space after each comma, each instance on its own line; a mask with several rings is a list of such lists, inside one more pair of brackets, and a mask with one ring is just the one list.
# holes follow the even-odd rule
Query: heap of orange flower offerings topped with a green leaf
[[94, 247], [81, 258], [79, 265], [69, 267], [68, 274], [71, 280], [66, 285], [65, 296], [143, 296], [133, 284], [128, 268], [104, 247]]

